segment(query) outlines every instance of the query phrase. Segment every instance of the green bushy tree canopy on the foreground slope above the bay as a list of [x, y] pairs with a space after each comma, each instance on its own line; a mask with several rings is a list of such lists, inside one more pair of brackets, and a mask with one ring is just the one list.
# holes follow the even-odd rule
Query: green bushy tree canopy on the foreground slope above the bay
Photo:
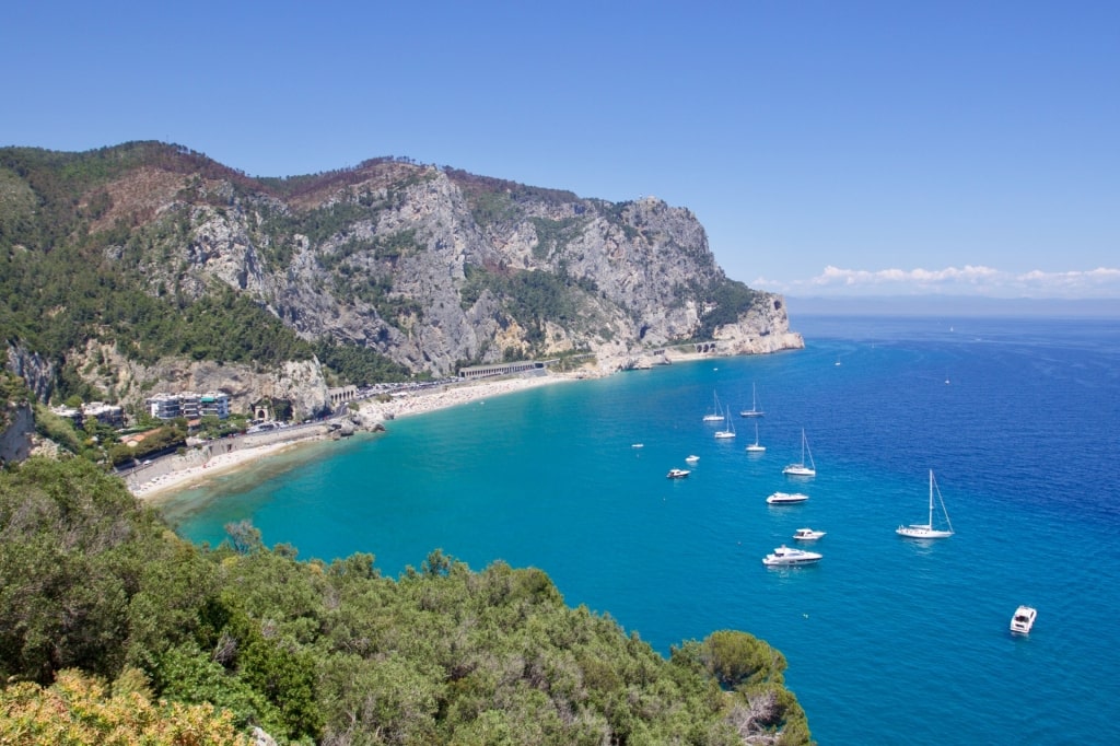
[[112, 717], [100, 682], [281, 743], [810, 743], [784, 659], [745, 633], [665, 660], [540, 570], [437, 550], [391, 579], [372, 554], [297, 561], [251, 525], [230, 537], [177, 539], [82, 459], [0, 473], [0, 735], [59, 697], [20, 682], [62, 675], [64, 699]]

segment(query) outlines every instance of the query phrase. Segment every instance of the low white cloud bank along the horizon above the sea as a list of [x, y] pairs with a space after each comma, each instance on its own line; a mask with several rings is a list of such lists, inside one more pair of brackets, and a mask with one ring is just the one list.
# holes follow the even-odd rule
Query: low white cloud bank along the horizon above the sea
[[755, 280], [753, 287], [790, 295], [963, 295], [991, 298], [1120, 298], [1120, 269], [1023, 273], [982, 264], [943, 269], [843, 269], [829, 265], [816, 277], [793, 282]]

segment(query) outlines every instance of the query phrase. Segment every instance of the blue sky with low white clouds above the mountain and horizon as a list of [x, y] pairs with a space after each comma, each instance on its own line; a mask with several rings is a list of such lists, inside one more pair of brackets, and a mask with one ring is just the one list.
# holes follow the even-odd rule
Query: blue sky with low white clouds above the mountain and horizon
[[1120, 297], [1120, 3], [40, 2], [0, 146], [407, 156], [689, 207], [792, 296]]

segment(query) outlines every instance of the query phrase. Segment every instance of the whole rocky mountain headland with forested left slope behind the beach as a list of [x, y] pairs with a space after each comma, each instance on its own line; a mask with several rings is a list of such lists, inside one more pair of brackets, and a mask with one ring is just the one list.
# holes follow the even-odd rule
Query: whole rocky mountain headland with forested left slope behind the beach
[[282, 397], [575, 353], [609, 367], [692, 339], [802, 344], [781, 297], [729, 280], [692, 213], [652, 197], [388, 158], [250, 178], [157, 142], [0, 149], [0, 332], [40, 398], [133, 403], [225, 373]]

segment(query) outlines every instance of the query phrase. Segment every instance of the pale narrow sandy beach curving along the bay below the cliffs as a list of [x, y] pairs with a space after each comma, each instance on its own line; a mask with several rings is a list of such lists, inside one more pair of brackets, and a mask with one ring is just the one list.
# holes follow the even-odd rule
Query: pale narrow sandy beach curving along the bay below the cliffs
[[[493, 397], [524, 391], [541, 385], [576, 380], [564, 375], [534, 375], [529, 377], [500, 379], [496, 381], [472, 381], [461, 384], [441, 386], [431, 391], [408, 392], [394, 397], [389, 402], [367, 400], [358, 402], [358, 417], [365, 422], [390, 422], [401, 417], [424, 414], [449, 407], [457, 407]], [[299, 447], [300, 444], [321, 440], [325, 429], [312, 431], [292, 429], [290, 437], [251, 448], [241, 448], [206, 457], [202, 451], [188, 454], [187, 457], [174, 457], [178, 463], [169, 466], [162, 474], [146, 482], [127, 479], [129, 489], [141, 500], [153, 500], [170, 493], [197, 486], [218, 474], [228, 473], [245, 466], [251, 461], [274, 456], [281, 451]]]

